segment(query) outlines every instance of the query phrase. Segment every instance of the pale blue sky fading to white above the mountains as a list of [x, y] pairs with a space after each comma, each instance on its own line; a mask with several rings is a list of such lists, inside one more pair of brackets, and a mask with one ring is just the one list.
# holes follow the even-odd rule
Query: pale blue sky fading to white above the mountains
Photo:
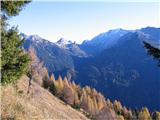
[[159, 27], [158, 1], [126, 1], [32, 1], [9, 22], [28, 35], [38, 34], [53, 42], [63, 37], [77, 43], [109, 29]]

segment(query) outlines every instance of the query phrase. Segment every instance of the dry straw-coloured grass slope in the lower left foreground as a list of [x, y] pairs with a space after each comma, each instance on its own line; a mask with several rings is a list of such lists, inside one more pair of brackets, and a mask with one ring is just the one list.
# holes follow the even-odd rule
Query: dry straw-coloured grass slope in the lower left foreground
[[35, 82], [32, 82], [30, 92], [27, 94], [28, 80], [27, 76], [23, 76], [14, 86], [1, 86], [1, 118], [16, 120], [88, 119]]

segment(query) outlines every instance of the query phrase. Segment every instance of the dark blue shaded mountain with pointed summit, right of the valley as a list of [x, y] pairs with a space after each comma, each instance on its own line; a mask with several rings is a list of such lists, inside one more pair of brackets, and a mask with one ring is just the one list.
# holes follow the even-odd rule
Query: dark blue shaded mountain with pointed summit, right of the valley
[[142, 41], [137, 33], [123, 36], [118, 45], [77, 68], [77, 82], [96, 87], [106, 97], [132, 108], [159, 109], [160, 70]]

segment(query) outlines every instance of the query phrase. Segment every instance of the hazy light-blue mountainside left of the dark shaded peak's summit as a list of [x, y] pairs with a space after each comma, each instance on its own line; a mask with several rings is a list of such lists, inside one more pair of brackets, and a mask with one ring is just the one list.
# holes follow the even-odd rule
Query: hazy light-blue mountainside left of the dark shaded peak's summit
[[80, 48], [91, 55], [96, 55], [104, 49], [111, 48], [117, 44], [119, 38], [127, 34], [128, 30], [114, 29], [108, 32], [100, 33], [89, 41], [84, 41]]

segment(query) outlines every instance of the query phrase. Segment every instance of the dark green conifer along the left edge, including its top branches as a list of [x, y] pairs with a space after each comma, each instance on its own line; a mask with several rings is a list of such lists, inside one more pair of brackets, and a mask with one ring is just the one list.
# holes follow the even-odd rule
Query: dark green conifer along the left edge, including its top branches
[[27, 72], [29, 57], [22, 49], [17, 28], [7, 29], [7, 20], [16, 16], [29, 1], [1, 1], [1, 83], [16, 81]]

